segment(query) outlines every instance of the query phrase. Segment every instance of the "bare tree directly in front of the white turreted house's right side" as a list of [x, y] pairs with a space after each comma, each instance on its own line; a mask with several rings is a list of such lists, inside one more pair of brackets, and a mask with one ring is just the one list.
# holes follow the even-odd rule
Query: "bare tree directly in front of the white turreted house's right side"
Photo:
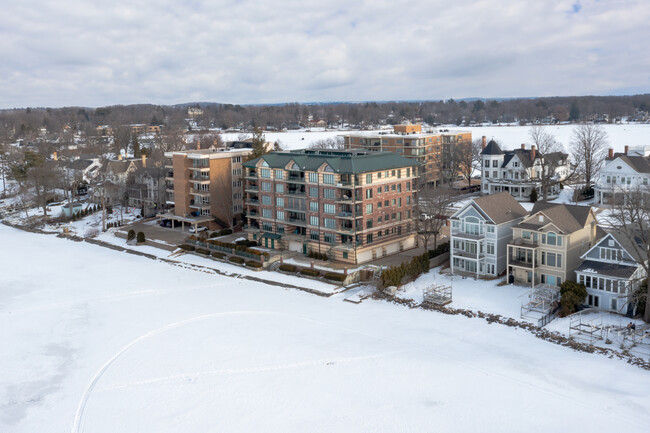
[[[531, 163], [534, 176], [539, 179], [542, 187], [542, 199], [546, 201], [551, 186], [559, 182], [556, 171], [563, 162], [563, 148], [553, 135], [546, 132], [543, 126], [531, 126], [528, 135], [536, 148], [536, 155], [539, 152], [540, 158], [535, 158]], [[536, 167], [540, 169], [536, 170]]]

